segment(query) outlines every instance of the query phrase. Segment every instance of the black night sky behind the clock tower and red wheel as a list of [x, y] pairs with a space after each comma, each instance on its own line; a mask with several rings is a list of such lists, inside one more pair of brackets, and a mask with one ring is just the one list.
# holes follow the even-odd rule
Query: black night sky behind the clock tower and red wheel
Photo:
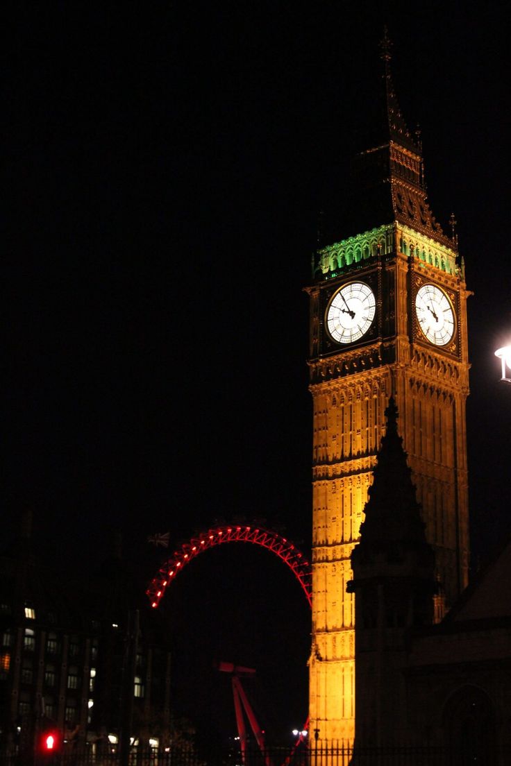
[[[349, 195], [387, 24], [431, 208], [446, 232], [454, 211], [474, 293], [470, 509], [474, 560], [488, 555], [511, 527], [511, 386], [493, 356], [511, 341], [505, 7], [16, 8], [2, 110], [6, 538], [32, 509], [41, 554], [83, 571], [117, 529], [134, 566], [152, 532], [173, 549], [221, 520], [256, 518], [310, 547], [303, 287], [319, 211]], [[257, 666], [268, 720], [300, 725], [306, 601], [270, 554], [228, 548], [166, 597], [182, 707], [192, 716], [200, 696], [199, 725], [210, 715], [220, 730], [227, 681], [211, 663], [234, 660]]]

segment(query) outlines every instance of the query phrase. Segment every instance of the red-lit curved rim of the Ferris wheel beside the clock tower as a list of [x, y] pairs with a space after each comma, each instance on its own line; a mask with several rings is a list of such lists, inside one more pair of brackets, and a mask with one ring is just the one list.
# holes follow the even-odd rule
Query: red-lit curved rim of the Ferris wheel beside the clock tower
[[151, 601], [151, 606], [156, 609], [159, 606], [166, 588], [172, 580], [175, 580], [179, 572], [195, 556], [215, 545], [224, 545], [226, 542], [250, 542], [254, 545], [261, 545], [268, 551], [274, 553], [287, 564], [293, 575], [300, 582], [309, 606], [312, 605], [312, 571], [309, 561], [303, 557], [296, 545], [287, 540], [277, 532], [271, 532], [270, 529], [261, 529], [261, 527], [246, 525], [223, 525], [216, 529], [209, 529], [204, 535], [192, 538], [181, 546], [179, 551], [165, 561], [159, 568], [158, 574], [152, 578], [146, 594]]

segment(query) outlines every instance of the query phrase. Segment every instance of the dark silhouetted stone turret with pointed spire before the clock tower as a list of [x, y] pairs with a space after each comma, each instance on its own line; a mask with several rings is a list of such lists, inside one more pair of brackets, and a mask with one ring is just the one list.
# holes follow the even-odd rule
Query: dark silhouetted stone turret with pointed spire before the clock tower
[[408, 639], [410, 630], [434, 620], [434, 552], [424, 534], [393, 398], [385, 417], [348, 583], [355, 594], [355, 748], [395, 746], [408, 738], [402, 675]]

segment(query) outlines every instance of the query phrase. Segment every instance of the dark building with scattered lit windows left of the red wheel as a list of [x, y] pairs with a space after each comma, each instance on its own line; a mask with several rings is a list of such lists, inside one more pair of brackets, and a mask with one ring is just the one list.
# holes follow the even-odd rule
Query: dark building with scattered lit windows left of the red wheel
[[36, 561], [25, 516], [0, 558], [0, 752], [30, 752], [43, 717], [67, 746], [116, 745], [126, 726], [145, 745], [169, 736], [169, 647], [123, 567], [113, 555], [71, 584]]

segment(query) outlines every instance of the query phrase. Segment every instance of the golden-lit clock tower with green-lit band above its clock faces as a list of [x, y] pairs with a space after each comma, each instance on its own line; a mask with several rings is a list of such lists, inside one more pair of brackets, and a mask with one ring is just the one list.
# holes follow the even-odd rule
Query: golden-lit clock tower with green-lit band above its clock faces
[[310, 294], [313, 645], [310, 732], [354, 735], [355, 609], [346, 593], [391, 396], [427, 542], [437, 619], [467, 585], [464, 265], [427, 202], [421, 144], [401, 116], [388, 41], [378, 135], [355, 160], [344, 230], [318, 250]]

